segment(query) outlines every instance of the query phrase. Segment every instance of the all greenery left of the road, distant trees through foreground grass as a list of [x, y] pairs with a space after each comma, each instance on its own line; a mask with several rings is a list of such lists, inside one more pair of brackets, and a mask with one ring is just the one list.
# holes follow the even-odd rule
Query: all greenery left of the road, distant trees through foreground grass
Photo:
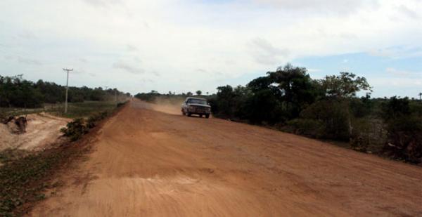
[[[0, 216], [22, 216], [34, 202], [49, 195], [46, 190], [60, 183], [53, 174], [68, 166], [72, 159], [89, 150], [84, 143], [73, 143], [100, 121], [116, 112], [130, 94], [101, 88], [70, 88], [68, 113], [64, 114], [65, 88], [54, 83], [33, 83], [22, 78], [0, 76], [0, 121], [23, 114], [48, 112], [74, 119], [63, 128], [69, 140], [42, 151], [7, 149], [0, 152]], [[115, 93], [118, 93], [115, 101]], [[53, 194], [53, 192], [49, 192]]]

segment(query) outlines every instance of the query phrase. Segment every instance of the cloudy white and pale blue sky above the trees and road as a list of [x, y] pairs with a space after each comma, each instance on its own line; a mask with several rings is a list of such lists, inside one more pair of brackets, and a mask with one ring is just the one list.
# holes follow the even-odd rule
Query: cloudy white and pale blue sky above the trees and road
[[292, 63], [422, 92], [422, 0], [1, 0], [0, 75], [215, 93]]

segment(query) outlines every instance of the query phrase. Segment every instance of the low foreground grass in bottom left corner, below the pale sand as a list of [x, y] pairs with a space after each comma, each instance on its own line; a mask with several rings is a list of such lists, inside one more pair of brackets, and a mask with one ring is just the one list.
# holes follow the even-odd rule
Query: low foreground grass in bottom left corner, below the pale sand
[[50, 175], [75, 154], [78, 152], [69, 147], [31, 154], [18, 150], [1, 152], [1, 156], [11, 157], [0, 167], [0, 216], [23, 215], [24, 204], [44, 199], [42, 192], [51, 186]]

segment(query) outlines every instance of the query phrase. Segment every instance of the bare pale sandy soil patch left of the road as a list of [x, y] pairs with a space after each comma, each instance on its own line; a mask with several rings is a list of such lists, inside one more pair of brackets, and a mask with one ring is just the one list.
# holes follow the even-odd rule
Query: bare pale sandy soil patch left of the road
[[14, 134], [12, 123], [0, 124], [0, 150], [18, 148], [23, 150], [40, 150], [60, 140], [60, 129], [70, 119], [54, 117], [49, 114], [28, 114], [26, 132]]

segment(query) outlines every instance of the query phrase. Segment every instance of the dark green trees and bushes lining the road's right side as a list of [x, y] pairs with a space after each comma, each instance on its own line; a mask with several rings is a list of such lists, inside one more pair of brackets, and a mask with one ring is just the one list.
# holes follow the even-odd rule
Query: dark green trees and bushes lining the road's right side
[[[215, 117], [348, 143], [353, 150], [421, 164], [421, 100], [371, 98], [371, 92], [366, 79], [356, 74], [312, 79], [306, 68], [288, 64], [245, 86], [219, 86], [216, 94], [203, 97]], [[153, 101], [192, 95], [151, 91], [135, 97]]]

